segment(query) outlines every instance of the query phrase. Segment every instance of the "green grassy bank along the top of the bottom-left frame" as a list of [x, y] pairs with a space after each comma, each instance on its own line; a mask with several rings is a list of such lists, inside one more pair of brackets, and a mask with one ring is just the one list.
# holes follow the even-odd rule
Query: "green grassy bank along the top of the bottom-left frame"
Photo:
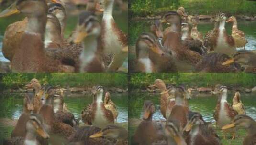
[[0, 88], [21, 88], [33, 78], [37, 78], [41, 84], [63, 87], [127, 87], [127, 75], [122, 73], [0, 73]]

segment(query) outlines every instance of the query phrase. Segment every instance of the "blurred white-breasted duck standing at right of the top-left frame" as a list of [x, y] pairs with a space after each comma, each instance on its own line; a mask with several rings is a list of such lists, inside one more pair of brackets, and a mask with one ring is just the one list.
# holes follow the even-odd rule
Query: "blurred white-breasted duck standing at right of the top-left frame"
[[[101, 23], [102, 33], [100, 35], [100, 40], [103, 47], [103, 55], [106, 58], [110, 57], [111, 55], [119, 55], [121, 50], [128, 46], [126, 35], [118, 28], [112, 15], [114, 1], [115, 0], [99, 0], [99, 4], [103, 4], [104, 6]], [[127, 57], [128, 55], [126, 55], [125, 58]], [[106, 59], [104, 60], [106, 62]]]

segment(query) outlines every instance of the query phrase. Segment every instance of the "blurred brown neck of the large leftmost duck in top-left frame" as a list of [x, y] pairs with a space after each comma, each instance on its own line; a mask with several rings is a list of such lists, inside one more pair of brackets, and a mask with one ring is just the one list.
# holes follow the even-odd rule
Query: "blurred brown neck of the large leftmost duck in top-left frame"
[[42, 40], [44, 41], [46, 21], [47, 21], [46, 13], [40, 16], [28, 17], [28, 24], [25, 32], [32, 33], [32, 34], [40, 34], [42, 37]]

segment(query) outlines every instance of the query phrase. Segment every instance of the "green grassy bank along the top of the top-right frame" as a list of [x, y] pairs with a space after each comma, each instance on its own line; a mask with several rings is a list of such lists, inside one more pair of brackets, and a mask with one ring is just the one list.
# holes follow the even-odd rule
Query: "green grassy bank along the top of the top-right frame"
[[133, 17], [146, 16], [176, 10], [179, 6], [193, 15], [219, 12], [251, 15], [256, 10], [256, 2], [247, 0], [131, 0], [130, 11]]

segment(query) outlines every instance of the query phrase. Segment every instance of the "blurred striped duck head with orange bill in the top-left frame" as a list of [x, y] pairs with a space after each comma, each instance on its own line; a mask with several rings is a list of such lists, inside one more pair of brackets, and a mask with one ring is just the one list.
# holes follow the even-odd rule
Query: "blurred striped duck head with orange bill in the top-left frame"
[[100, 35], [100, 32], [100, 22], [93, 12], [82, 12], [79, 16], [78, 25], [73, 36], [73, 42], [80, 43], [89, 36], [97, 38]]

